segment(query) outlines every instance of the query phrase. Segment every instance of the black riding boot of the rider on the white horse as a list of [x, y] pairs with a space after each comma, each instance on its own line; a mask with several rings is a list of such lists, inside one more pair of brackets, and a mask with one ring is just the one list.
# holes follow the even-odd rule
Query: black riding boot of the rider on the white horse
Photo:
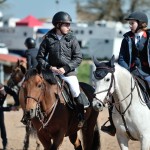
[[105, 126], [105, 124], [108, 122], [107, 121], [106, 123], [104, 123], [104, 125], [102, 125], [101, 130], [103, 132], [108, 133], [111, 136], [115, 136], [115, 134], [116, 134], [116, 128], [115, 128], [113, 120], [112, 120], [112, 109], [113, 109], [113, 106], [110, 106], [110, 108], [108, 109], [108, 111], [109, 111], [110, 125], [109, 126]]

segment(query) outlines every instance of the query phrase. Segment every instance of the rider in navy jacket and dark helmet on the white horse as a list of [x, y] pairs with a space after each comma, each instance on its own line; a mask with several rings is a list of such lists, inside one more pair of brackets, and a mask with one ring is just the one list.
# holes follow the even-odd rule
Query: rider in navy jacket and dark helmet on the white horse
[[[121, 43], [118, 64], [132, 72], [140, 70], [145, 80], [150, 83], [150, 31], [147, 30], [148, 17], [145, 13], [136, 11], [125, 18], [129, 22], [131, 31], [124, 34]], [[101, 130], [112, 136], [116, 129], [112, 120], [112, 107], [109, 109], [109, 126], [102, 126]]]

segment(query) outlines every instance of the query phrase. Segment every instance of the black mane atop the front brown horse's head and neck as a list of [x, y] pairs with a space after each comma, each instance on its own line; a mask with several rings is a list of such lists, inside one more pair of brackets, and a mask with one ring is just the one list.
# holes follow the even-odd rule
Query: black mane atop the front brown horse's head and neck
[[36, 75], [42, 75], [44, 80], [47, 81], [49, 84], [57, 84], [55, 75], [53, 74], [51, 70], [48, 70], [48, 69], [37, 69], [37, 68], [29, 69], [26, 72], [25, 81], [28, 80], [30, 77], [36, 76]]

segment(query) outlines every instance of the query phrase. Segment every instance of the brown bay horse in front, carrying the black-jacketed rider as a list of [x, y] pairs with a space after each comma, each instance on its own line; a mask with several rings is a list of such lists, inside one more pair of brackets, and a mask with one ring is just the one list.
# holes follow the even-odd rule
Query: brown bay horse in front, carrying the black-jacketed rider
[[[82, 83], [83, 85], [85, 83]], [[86, 91], [90, 103], [94, 89], [85, 84], [90, 90]], [[77, 112], [66, 104], [62, 95], [63, 86], [59, 86], [55, 75], [50, 70], [28, 70], [19, 92], [19, 99], [24, 103], [22, 108], [37, 130], [38, 137], [44, 150], [57, 150], [65, 136], [69, 136], [75, 150], [98, 150], [100, 134], [97, 117], [99, 112], [88, 107], [85, 112], [86, 121], [81, 128], [82, 144], [77, 132]]]

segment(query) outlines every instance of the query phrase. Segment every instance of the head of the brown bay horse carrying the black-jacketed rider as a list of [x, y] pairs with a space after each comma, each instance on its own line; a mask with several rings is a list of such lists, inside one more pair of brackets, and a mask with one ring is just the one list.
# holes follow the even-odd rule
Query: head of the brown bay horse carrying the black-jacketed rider
[[25, 97], [25, 111], [28, 119], [40, 117], [53, 103], [57, 91], [56, 79], [50, 70], [28, 70], [22, 84]]

